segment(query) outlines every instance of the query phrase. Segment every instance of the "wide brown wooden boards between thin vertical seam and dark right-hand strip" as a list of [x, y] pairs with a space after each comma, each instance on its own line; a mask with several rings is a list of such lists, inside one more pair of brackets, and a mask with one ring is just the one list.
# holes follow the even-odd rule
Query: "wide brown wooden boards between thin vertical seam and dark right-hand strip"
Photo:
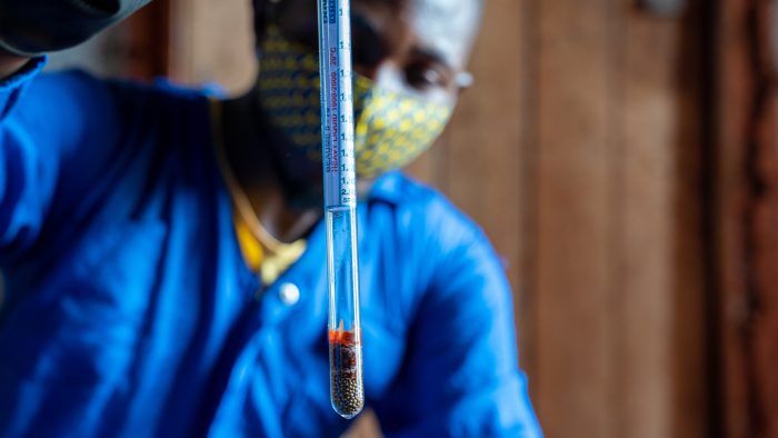
[[542, 2], [538, 19], [547, 435], [706, 436], [697, 24], [627, 1]]

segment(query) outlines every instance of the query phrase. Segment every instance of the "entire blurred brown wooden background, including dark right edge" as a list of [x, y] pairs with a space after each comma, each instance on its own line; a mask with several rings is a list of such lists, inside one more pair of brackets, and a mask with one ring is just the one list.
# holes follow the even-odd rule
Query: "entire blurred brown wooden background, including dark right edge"
[[[774, 2], [486, 4], [476, 84], [410, 170], [505, 258], [546, 435], [778, 436]], [[76, 58], [237, 92], [248, 6], [157, 0]]]

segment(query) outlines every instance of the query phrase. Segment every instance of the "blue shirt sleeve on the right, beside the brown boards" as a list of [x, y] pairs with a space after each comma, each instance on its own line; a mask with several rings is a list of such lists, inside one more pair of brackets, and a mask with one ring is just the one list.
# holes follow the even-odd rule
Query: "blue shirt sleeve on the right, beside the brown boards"
[[[432, 215], [433, 216], [433, 215]], [[502, 266], [467, 219], [440, 223], [429, 290], [411, 323], [403, 370], [376, 406], [388, 437], [541, 437], [518, 366]]]

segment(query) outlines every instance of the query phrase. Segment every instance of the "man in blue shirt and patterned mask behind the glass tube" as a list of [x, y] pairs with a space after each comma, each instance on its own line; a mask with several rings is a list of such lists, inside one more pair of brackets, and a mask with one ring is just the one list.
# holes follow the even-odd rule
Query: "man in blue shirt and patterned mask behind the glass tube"
[[[108, 3], [0, 0], [34, 29], [0, 30], [0, 437], [342, 434], [316, 3], [255, 0], [260, 73], [235, 99], [41, 74], [37, 53], [131, 11]], [[541, 435], [498, 257], [397, 170], [469, 82], [480, 3], [352, 1], [365, 390], [388, 437]]]

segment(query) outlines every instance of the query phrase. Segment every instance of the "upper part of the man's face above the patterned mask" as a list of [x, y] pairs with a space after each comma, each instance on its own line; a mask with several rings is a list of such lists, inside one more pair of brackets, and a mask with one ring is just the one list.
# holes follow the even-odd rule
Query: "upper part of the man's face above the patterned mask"
[[[467, 78], [465, 67], [478, 28], [479, 2], [352, 0], [355, 70], [383, 89], [453, 106]], [[269, 21], [289, 40], [317, 52], [316, 2], [281, 0], [275, 8], [275, 18]]]

